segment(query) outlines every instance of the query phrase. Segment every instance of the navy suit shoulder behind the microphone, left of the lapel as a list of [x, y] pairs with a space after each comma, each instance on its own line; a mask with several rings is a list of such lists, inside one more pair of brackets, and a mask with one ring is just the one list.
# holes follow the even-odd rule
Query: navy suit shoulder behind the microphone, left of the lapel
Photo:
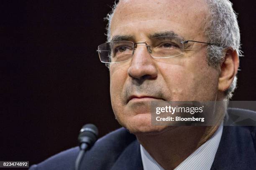
[[[111, 164], [114, 162], [120, 153], [130, 144], [136, 137], [125, 128], [115, 130], [95, 143], [95, 145], [88, 150], [82, 160], [85, 165], [90, 164]], [[70, 170], [74, 168], [74, 163], [79, 153], [79, 147], [71, 148], [58, 153], [38, 165], [31, 166], [30, 170]], [[106, 160], [106, 158], [108, 158]]]

